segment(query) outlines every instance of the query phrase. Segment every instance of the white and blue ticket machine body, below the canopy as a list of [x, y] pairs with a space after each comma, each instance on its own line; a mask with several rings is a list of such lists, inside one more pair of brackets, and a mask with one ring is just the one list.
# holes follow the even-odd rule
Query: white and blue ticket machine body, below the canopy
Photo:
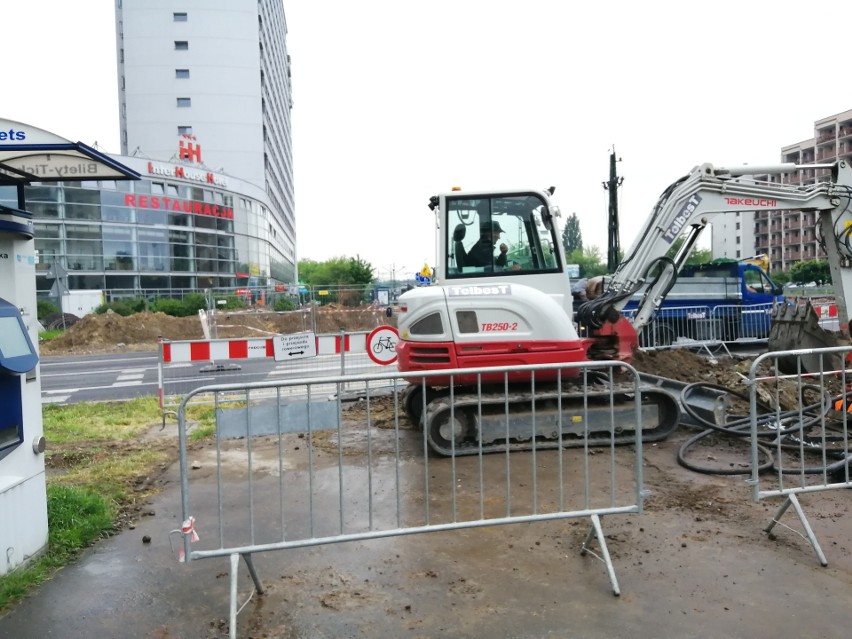
[[0, 575], [47, 544], [32, 226], [0, 206]]

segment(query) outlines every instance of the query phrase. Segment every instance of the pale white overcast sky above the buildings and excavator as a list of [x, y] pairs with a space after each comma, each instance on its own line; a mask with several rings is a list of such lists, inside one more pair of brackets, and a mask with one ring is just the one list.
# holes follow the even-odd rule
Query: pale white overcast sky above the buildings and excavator
[[[9, 5], [9, 6], [6, 6]], [[113, 0], [6, 2], [0, 115], [118, 152]], [[85, 7], [85, 9], [84, 9]], [[285, 0], [300, 259], [434, 263], [431, 195], [556, 186], [605, 259], [693, 166], [777, 163], [852, 108], [848, 3]], [[837, 46], [832, 49], [832, 45]], [[564, 220], [563, 220], [564, 221]]]

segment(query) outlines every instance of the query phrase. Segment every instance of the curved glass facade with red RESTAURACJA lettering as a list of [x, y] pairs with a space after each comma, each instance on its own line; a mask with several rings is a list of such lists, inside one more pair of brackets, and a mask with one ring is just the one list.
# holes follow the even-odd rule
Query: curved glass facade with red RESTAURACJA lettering
[[[103, 290], [108, 301], [296, 279], [277, 216], [263, 201], [217, 184], [168, 176], [69, 181], [27, 186], [25, 197], [40, 297], [51, 295], [53, 264], [59, 268], [52, 272], [67, 272], [63, 290]], [[0, 203], [17, 206], [14, 187], [0, 187]]]

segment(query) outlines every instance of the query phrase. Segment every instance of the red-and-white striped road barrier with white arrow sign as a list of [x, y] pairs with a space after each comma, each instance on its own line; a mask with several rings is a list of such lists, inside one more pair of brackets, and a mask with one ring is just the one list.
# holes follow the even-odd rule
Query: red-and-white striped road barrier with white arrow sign
[[[368, 332], [313, 335], [316, 356], [276, 361], [273, 338], [161, 340], [158, 357], [160, 408], [174, 411], [193, 388], [232, 383], [247, 375], [267, 379], [319, 377], [381, 370], [367, 352]], [[251, 367], [251, 370], [249, 370]], [[333, 390], [334, 386], [329, 389]]]

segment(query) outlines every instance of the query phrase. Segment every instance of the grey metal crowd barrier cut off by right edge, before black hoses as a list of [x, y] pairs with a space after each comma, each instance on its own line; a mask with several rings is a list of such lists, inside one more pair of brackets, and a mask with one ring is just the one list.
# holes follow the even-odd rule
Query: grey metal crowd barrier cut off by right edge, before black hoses
[[803, 536], [823, 566], [828, 561], [799, 495], [852, 488], [852, 369], [846, 368], [850, 354], [852, 348], [838, 347], [777, 351], [755, 358], [747, 380], [749, 423], [740, 425], [751, 430], [753, 499], [784, 498], [764, 531], [781, 523], [793, 506]]

